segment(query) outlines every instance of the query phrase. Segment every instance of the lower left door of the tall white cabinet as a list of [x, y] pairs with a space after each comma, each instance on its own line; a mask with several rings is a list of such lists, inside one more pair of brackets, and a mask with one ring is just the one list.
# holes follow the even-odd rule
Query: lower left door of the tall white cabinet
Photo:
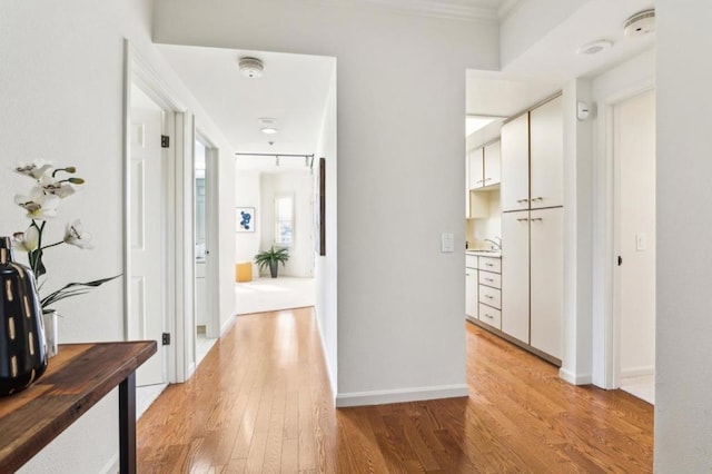
[[502, 215], [502, 330], [530, 342], [528, 211]]

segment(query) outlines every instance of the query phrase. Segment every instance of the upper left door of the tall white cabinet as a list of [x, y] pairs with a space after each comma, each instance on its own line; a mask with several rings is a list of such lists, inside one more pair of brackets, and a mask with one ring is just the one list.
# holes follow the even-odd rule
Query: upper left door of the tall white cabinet
[[[502, 126], [502, 210], [530, 208], [530, 116]], [[503, 315], [504, 317], [504, 315]]]

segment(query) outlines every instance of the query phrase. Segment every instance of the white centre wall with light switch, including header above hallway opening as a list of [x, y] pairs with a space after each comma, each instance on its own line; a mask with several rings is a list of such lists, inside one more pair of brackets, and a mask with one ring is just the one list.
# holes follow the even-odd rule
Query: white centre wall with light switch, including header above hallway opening
[[497, 66], [497, 28], [285, 0], [156, 6], [159, 41], [337, 58], [337, 397], [465, 394], [465, 69]]

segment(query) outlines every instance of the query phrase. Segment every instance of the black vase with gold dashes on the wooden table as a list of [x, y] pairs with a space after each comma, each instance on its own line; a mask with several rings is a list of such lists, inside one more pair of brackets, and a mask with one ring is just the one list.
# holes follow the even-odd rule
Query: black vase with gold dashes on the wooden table
[[9, 237], [0, 237], [0, 396], [4, 396], [27, 388], [47, 369], [34, 275], [13, 261]]

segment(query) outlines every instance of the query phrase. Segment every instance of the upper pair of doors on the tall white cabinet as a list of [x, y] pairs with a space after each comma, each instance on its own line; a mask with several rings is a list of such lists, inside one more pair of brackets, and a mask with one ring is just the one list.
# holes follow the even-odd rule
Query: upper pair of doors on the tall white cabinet
[[502, 210], [563, 205], [563, 100], [558, 96], [502, 126]]

